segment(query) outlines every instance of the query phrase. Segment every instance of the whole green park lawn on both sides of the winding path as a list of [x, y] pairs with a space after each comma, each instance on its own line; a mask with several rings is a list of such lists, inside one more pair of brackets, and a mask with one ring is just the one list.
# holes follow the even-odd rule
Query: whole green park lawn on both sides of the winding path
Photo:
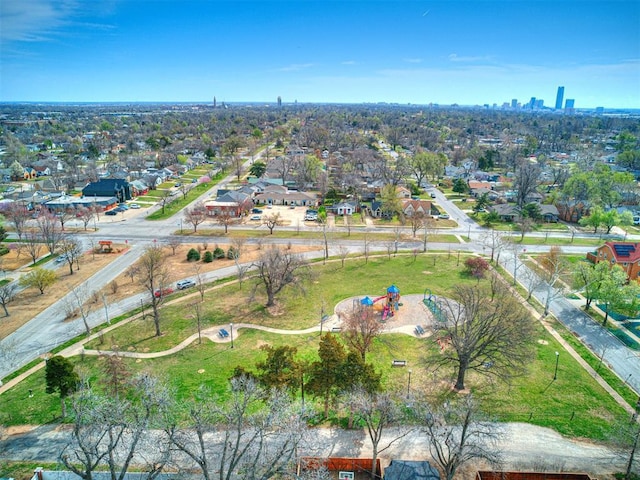
[[[206, 325], [228, 326], [234, 323], [259, 323], [284, 329], [305, 328], [316, 325], [322, 309], [331, 312], [339, 301], [351, 296], [372, 295], [395, 284], [401, 294], [422, 294], [425, 289], [447, 295], [459, 285], [475, 283], [462, 273], [455, 255], [386, 256], [348, 261], [342, 268], [340, 262], [315, 264], [313, 277], [301, 290], [289, 290], [279, 297], [280, 308], [276, 313], [266, 311], [261, 293], [252, 295], [250, 281], [240, 290], [237, 284], [224, 285], [207, 292], [203, 307]], [[252, 301], [253, 299], [253, 301]], [[116, 344], [122, 351], [158, 351], [179, 343], [195, 333], [196, 325], [190, 305], [195, 298], [184, 298], [163, 308], [163, 331], [160, 338], [153, 337], [150, 320], [134, 321], [107, 334], [105, 345]], [[218, 344], [204, 339], [197, 340], [177, 354], [156, 359], [126, 362], [130, 369], [161, 374], [172, 385], [179, 398], [190, 396], [200, 385], [206, 385], [212, 393], [225, 395], [228, 378], [236, 366], [251, 370], [264, 358], [262, 345], [295, 346], [301, 359], [314, 360], [317, 356], [319, 333], [306, 335], [280, 335], [252, 329], [244, 329], [234, 342]], [[622, 408], [538, 325], [535, 338], [535, 356], [528, 372], [510, 385], [488, 381], [471, 374], [469, 387], [483, 400], [483, 405], [499, 420], [524, 421], [549, 426], [560, 433], [604, 439], [610, 433], [615, 420], [625, 417]], [[99, 342], [95, 341], [93, 347]], [[91, 347], [88, 346], [88, 347]], [[395, 358], [407, 360], [412, 368], [412, 385], [417, 390], [430, 383], [430, 376], [422, 358], [427, 349], [437, 348], [429, 338], [414, 338], [402, 334], [385, 334], [376, 339], [368, 361], [382, 375], [385, 388], [403, 392], [407, 385], [408, 368], [393, 368]], [[582, 347], [584, 348], [584, 347]], [[553, 381], [555, 352], [560, 352], [558, 375]], [[581, 352], [582, 353], [582, 352]], [[74, 357], [78, 370], [91, 383], [99, 385], [100, 363], [97, 357]], [[601, 371], [605, 371], [602, 368]], [[449, 385], [453, 372], [446, 372], [443, 386]], [[611, 374], [613, 375], [613, 374]], [[415, 380], [414, 380], [415, 379]], [[33, 397], [29, 396], [29, 391]], [[60, 401], [44, 392], [44, 370], [31, 375], [25, 381], [2, 395], [3, 409], [0, 421], [9, 424], [40, 424], [58, 420]]]

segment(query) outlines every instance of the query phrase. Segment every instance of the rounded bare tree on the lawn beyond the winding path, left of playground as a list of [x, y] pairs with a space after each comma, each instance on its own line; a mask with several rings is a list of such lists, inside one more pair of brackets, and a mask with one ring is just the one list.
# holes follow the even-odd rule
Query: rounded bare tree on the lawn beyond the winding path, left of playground
[[300, 276], [307, 270], [307, 263], [290, 251], [271, 247], [256, 263], [258, 278], [267, 294], [266, 307], [275, 305], [275, 297], [288, 285], [301, 287]]

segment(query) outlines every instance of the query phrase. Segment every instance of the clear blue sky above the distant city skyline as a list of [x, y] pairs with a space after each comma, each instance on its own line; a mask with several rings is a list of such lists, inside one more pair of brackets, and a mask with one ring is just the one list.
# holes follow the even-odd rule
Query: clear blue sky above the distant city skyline
[[640, 108], [637, 0], [2, 0], [0, 101]]

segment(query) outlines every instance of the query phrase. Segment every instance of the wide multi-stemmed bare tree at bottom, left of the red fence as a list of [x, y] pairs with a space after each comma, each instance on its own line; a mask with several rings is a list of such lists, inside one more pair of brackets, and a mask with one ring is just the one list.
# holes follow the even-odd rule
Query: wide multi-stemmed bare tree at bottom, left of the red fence
[[166, 432], [205, 480], [259, 480], [288, 472], [308, 431], [304, 409], [285, 392], [268, 394], [247, 376], [231, 380], [226, 404], [206, 396], [189, 403], [184, 417], [190, 428], [173, 422]]

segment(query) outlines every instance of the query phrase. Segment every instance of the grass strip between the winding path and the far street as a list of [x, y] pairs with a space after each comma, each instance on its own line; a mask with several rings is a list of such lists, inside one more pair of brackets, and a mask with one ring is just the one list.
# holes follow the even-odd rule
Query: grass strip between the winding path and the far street
[[[323, 313], [332, 314], [335, 306], [349, 297], [384, 294], [394, 284], [402, 294], [422, 294], [430, 289], [446, 294], [457, 286], [475, 283], [463, 273], [464, 260], [456, 255], [430, 254], [413, 256], [370, 257], [341, 262], [314, 264], [312, 278], [300, 288], [285, 289], [274, 309], [265, 309], [266, 297], [253, 288], [257, 280], [246, 280], [242, 289], [232, 283], [210, 289], [201, 306], [202, 328], [228, 328], [230, 322], [252, 323], [285, 330], [306, 329], [318, 325]], [[136, 319], [118, 327], [86, 345], [87, 349], [105, 349], [117, 345], [121, 351], [159, 352], [167, 350], [197, 333], [193, 303], [199, 294], [170, 302], [161, 309], [162, 336], [155, 336], [155, 326], [146, 308], [147, 319]], [[106, 347], [105, 347], [106, 344]]]

